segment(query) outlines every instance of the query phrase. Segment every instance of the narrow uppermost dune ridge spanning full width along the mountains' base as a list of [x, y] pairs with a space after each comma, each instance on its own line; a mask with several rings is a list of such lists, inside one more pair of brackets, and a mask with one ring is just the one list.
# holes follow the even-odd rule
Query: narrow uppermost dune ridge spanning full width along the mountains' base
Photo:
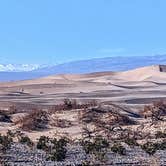
[[166, 66], [164, 65], [153, 65], [134, 70], [124, 72], [96, 72], [88, 74], [60, 74], [52, 75], [48, 77], [15, 81], [8, 83], [1, 83], [0, 86], [18, 86], [18, 85], [29, 85], [29, 84], [45, 84], [45, 83], [67, 83], [69, 81], [93, 81], [103, 82], [107, 80], [126, 80], [126, 81], [144, 81], [144, 80], [156, 80], [166, 79]]

